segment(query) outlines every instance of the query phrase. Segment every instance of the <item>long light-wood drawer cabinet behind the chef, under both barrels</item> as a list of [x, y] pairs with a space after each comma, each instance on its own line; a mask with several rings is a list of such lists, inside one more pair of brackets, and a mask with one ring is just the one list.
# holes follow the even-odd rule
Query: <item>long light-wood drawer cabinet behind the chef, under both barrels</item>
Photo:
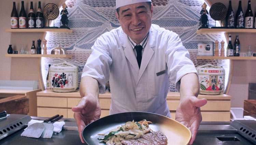
[[[109, 92], [99, 95], [101, 117], [109, 114], [110, 95]], [[37, 96], [37, 114], [41, 117], [51, 117], [60, 114], [66, 118], [73, 118], [74, 113], [71, 111], [71, 108], [76, 106], [81, 99], [79, 91], [56, 93], [52, 90], [45, 90], [37, 92]], [[203, 121], [230, 121], [231, 96], [226, 94], [199, 95], [198, 98], [206, 98], [208, 100], [208, 103], [201, 107]], [[169, 92], [167, 95], [167, 104], [172, 118], [175, 118], [175, 111], [179, 103], [180, 93]]]

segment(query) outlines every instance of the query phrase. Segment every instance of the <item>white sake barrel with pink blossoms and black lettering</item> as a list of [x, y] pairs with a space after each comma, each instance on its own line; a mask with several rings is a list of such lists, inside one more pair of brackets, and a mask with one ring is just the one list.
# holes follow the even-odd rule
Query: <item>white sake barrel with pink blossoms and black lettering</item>
[[78, 87], [78, 67], [67, 62], [51, 65], [49, 82], [54, 92], [74, 92]]

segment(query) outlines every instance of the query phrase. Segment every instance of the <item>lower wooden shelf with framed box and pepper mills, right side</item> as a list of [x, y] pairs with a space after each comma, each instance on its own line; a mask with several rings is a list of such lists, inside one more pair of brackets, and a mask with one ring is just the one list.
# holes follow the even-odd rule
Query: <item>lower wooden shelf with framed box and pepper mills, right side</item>
[[214, 56], [197, 56], [200, 60], [256, 60], [256, 57], [214, 57]]

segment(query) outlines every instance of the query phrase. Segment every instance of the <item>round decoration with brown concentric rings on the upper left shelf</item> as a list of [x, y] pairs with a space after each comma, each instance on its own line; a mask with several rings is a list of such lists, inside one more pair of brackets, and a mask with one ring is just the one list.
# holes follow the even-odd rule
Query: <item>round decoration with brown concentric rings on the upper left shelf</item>
[[44, 6], [44, 17], [48, 20], [54, 20], [59, 16], [58, 6], [54, 3], [48, 3]]

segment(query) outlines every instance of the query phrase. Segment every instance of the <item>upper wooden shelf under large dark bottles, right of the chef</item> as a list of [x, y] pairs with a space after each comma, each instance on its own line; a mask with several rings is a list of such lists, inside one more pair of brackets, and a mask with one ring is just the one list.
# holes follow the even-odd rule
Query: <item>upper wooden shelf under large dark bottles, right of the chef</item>
[[197, 34], [210, 33], [256, 33], [256, 29], [210, 29], [204, 28], [197, 30]]

